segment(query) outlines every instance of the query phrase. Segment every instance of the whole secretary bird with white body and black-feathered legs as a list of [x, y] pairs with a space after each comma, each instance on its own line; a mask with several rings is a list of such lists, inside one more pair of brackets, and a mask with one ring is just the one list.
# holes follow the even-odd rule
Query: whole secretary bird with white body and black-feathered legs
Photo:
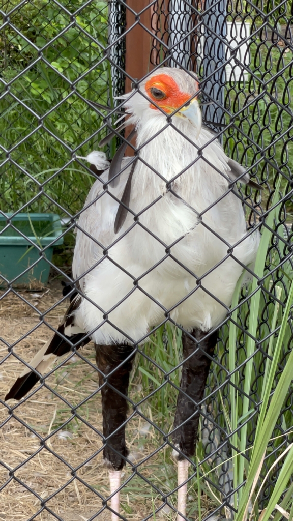
[[77, 291], [71, 291], [58, 332], [6, 396], [20, 400], [72, 344], [78, 349], [93, 340], [112, 521], [119, 519], [115, 491], [128, 455], [125, 397], [133, 357], [152, 328], [166, 320], [183, 330], [172, 439], [181, 485], [178, 519], [186, 518], [188, 459], [196, 448], [217, 327], [243, 266], [254, 262], [258, 249], [259, 233], [247, 234], [236, 181], [261, 187], [202, 125], [198, 91], [191, 73], [166, 67], [122, 97], [129, 117], [117, 130], [135, 127], [128, 139], [136, 131], [136, 156], [123, 157], [127, 143], [109, 168], [104, 153], [87, 156], [100, 177], [77, 225], [72, 265]]

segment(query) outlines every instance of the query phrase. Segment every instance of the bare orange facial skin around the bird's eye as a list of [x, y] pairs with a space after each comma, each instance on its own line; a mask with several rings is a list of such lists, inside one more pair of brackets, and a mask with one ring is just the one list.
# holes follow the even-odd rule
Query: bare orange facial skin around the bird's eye
[[[164, 100], [156, 100], [152, 96], [150, 91], [152, 87], [160, 89], [165, 93]], [[166, 74], [158, 74], [157, 76], [150, 78], [145, 84], [145, 90], [150, 99], [153, 100], [158, 107], [161, 107], [167, 114], [172, 114], [174, 110], [187, 103], [191, 97], [190, 94], [181, 92], [176, 81]], [[155, 105], [152, 103], [150, 104], [150, 107], [157, 110]]]

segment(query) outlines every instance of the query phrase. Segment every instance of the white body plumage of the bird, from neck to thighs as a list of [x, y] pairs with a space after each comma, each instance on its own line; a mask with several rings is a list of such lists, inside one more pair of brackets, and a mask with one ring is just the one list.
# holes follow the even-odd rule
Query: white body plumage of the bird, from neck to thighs
[[[147, 136], [165, 126], [166, 120], [160, 119], [153, 125], [142, 122], [143, 131], [138, 129], [141, 160], [129, 204], [139, 214], [136, 225], [124, 235], [134, 222], [128, 213], [123, 228], [114, 234], [118, 203], [108, 193], [79, 221], [103, 245], [78, 231], [74, 276], [98, 264], [83, 279], [91, 302], [83, 299], [76, 323], [87, 332], [95, 329], [92, 338], [97, 344], [139, 342], [168, 317], [187, 330], [215, 327], [227, 312], [242, 271], [227, 254], [229, 247], [245, 238], [233, 250], [245, 265], [254, 261], [257, 251], [258, 234], [246, 237], [241, 202], [227, 192], [228, 181], [217, 171], [225, 174], [229, 168], [221, 145], [212, 141], [206, 146], [213, 138], [207, 130], [201, 131], [197, 141], [189, 132], [190, 141], [186, 141], [168, 127], [143, 146]], [[188, 135], [184, 121], [177, 125]], [[116, 189], [109, 188], [117, 199], [121, 199], [128, 172], [121, 174]], [[165, 180], [173, 180], [170, 187], [181, 199], [167, 191]], [[87, 203], [102, 192], [102, 184], [96, 181]], [[109, 247], [119, 235], [121, 239]], [[82, 258], [87, 258], [86, 264], [80, 262]]]

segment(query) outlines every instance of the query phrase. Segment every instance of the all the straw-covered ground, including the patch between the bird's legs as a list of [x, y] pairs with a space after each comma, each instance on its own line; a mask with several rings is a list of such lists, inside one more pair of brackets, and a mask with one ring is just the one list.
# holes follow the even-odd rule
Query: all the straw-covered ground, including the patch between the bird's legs
[[[68, 305], [66, 300], [54, 307], [62, 298], [59, 283], [39, 292], [9, 293], [0, 300], [0, 487], [3, 487], [0, 490], [0, 519], [27, 521], [39, 511], [41, 500], [50, 498], [45, 503], [48, 510], [34, 517], [36, 521], [108, 520], [110, 513], [107, 509], [95, 517], [103, 507], [102, 499], [109, 494], [102, 453], [96, 454], [102, 446], [99, 434], [102, 432], [100, 395], [96, 394], [82, 403], [97, 388], [94, 367], [74, 355], [46, 380], [47, 385], [60, 394], [60, 398], [44, 386], [20, 405], [11, 400], [8, 405], [15, 408], [9, 416], [4, 396], [23, 369], [14, 354], [30, 361], [51, 335], [50, 328], [40, 322], [39, 313], [21, 297], [25, 297], [40, 313], [52, 308], [45, 319], [55, 327]], [[28, 332], [30, 334], [26, 336]], [[10, 345], [17, 342], [13, 348], [14, 354], [7, 355], [6, 342]], [[95, 363], [92, 344], [83, 348], [81, 354], [92, 364]], [[78, 404], [78, 417], [74, 417], [71, 408]], [[58, 428], [60, 430], [56, 431]], [[53, 436], [42, 446], [41, 438], [52, 432]], [[141, 460], [157, 447], [154, 438], [152, 428], [144, 424], [141, 417], [130, 421], [127, 440], [133, 461]], [[162, 449], [139, 469], [145, 478], [153, 480], [156, 476], [157, 485], [163, 479], [161, 475], [169, 474], [174, 479], [167, 490], [172, 490], [170, 487], [176, 486], [176, 467], [175, 464], [168, 464], [164, 470], [164, 451]], [[9, 478], [9, 470], [13, 469], [13, 477]], [[77, 469], [76, 479], [71, 474], [73, 469]], [[123, 477], [126, 480], [129, 476], [130, 465], [125, 468]], [[175, 494], [170, 502], [175, 505]], [[152, 513], [153, 504], [158, 507], [163, 503], [142, 477], [135, 476], [121, 492], [121, 514], [127, 519], [146, 517]], [[165, 506], [157, 517], [170, 519], [174, 518], [174, 514], [171, 516], [170, 509]]]

